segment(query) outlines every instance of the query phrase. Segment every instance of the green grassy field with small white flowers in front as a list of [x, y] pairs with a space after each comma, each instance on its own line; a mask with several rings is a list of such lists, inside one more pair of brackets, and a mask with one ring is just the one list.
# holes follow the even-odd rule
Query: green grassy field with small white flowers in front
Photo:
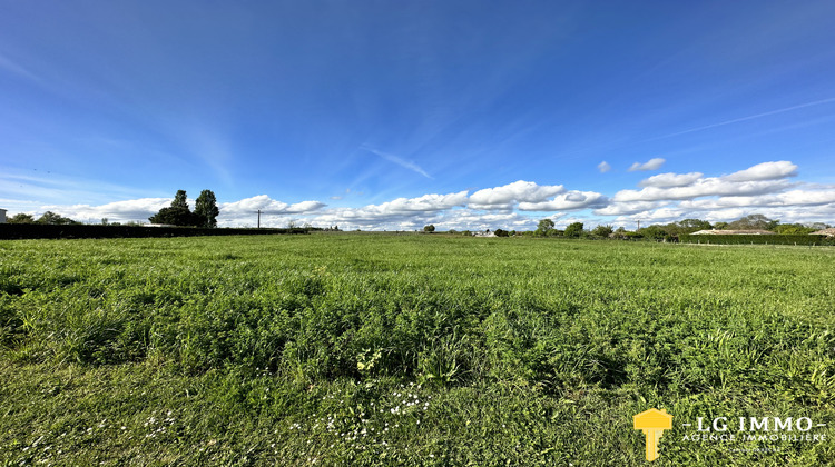
[[834, 311], [835, 248], [3, 241], [0, 464], [827, 465]]

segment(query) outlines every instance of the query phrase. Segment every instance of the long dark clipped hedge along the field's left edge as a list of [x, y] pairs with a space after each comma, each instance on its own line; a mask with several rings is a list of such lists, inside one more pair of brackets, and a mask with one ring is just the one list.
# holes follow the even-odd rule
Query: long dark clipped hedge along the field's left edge
[[0, 240], [35, 238], [150, 238], [198, 237], [224, 235], [276, 235], [307, 234], [306, 229], [206, 229], [197, 227], [145, 227], [145, 226], [45, 226], [40, 223], [0, 223]]

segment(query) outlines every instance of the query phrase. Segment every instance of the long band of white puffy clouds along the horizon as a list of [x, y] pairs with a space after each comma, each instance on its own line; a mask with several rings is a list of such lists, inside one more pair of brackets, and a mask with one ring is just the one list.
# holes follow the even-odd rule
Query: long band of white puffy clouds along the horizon
[[[611, 199], [595, 191], [567, 190], [562, 185], [540, 186], [519, 180], [469, 195], [423, 195], [396, 198], [379, 205], [328, 208], [316, 200], [296, 203], [267, 195], [218, 205], [222, 227], [255, 226], [261, 210], [262, 227], [311, 223], [338, 225], [343, 229], [414, 230], [426, 223], [439, 229], [507, 230], [534, 229], [541, 213], [568, 223], [629, 222], [667, 223], [686, 218], [710, 221], [734, 220], [749, 213], [764, 213], [784, 222], [827, 222], [835, 220], [835, 186], [790, 182], [797, 167], [787, 161], [763, 162], [726, 176], [705, 177], [700, 172], [660, 173], [642, 180], [639, 190], [621, 190]], [[22, 180], [21, 180], [22, 181]], [[347, 192], [347, 190], [346, 190]], [[148, 217], [170, 205], [170, 198], [140, 198], [92, 205], [45, 205], [36, 201], [2, 200], [3, 207], [40, 216], [52, 210], [84, 222], [101, 218], [147, 222]], [[194, 207], [194, 200], [188, 200]], [[589, 212], [588, 210], [591, 210]], [[485, 212], [487, 211], [487, 212]], [[529, 213], [530, 212], [530, 213]], [[566, 215], [569, 212], [569, 215]], [[567, 217], [570, 216], [570, 217]], [[613, 219], [612, 219], [613, 218]]]

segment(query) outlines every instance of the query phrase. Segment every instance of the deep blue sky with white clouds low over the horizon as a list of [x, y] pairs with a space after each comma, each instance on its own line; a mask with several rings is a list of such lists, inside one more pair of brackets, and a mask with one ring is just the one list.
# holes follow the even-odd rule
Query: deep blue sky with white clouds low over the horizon
[[9, 215], [835, 223], [831, 1], [0, 6]]

